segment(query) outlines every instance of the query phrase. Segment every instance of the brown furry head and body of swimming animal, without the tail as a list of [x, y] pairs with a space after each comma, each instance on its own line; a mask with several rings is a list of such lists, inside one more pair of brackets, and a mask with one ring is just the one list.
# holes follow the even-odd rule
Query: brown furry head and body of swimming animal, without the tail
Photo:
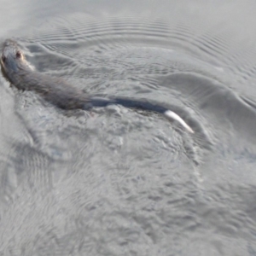
[[34, 90], [59, 108], [84, 108], [89, 100], [82, 90], [63, 79], [33, 71], [15, 41], [7, 40], [3, 44], [1, 67], [4, 76], [19, 90]]

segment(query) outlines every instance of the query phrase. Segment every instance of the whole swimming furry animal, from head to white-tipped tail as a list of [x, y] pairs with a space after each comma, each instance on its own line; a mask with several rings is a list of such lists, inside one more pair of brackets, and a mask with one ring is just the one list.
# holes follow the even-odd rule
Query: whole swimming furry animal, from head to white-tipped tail
[[110, 104], [119, 104], [126, 108], [138, 108], [161, 113], [169, 119], [177, 120], [183, 127], [194, 131], [186, 122], [168, 108], [151, 102], [132, 100], [123, 97], [99, 98], [86, 95], [82, 90], [67, 84], [62, 79], [53, 78], [43, 73], [33, 71], [21, 52], [18, 44], [13, 40], [6, 40], [3, 44], [1, 67], [4, 76], [19, 90], [34, 90], [44, 99], [59, 108], [90, 109], [106, 107]]

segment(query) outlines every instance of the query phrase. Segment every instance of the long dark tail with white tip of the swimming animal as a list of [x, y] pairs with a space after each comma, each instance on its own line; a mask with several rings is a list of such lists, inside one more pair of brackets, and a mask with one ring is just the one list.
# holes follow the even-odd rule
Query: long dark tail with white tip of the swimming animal
[[167, 119], [177, 120], [177, 122], [180, 125], [182, 125], [187, 131], [194, 133], [192, 128], [179, 115], [177, 115], [177, 113], [174, 113], [170, 109], [162, 107], [158, 104], [154, 104], [152, 102], [132, 100], [132, 99], [121, 98], [121, 97], [113, 97], [113, 98], [91, 97], [88, 102], [84, 103], [84, 110], [94, 108], [94, 107], [103, 108], [103, 107], [107, 107], [108, 105], [121, 105], [125, 108], [137, 108], [137, 109], [161, 113]]

